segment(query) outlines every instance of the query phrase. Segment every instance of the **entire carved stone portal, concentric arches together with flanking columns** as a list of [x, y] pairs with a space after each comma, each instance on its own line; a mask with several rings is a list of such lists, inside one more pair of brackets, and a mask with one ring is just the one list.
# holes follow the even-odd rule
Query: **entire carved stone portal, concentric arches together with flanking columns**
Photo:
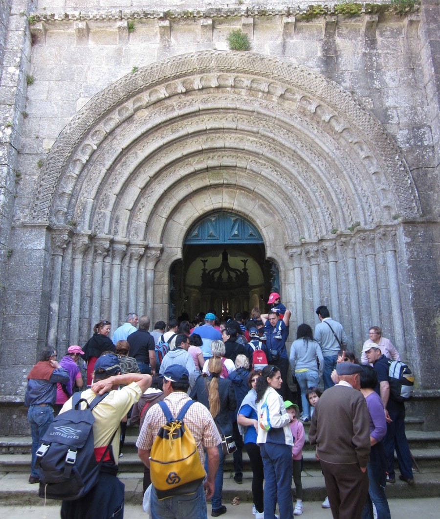
[[[133, 305], [162, 319], [188, 229], [218, 210], [260, 230], [295, 324], [328, 303], [356, 343], [380, 315], [405, 344], [401, 294], [387, 288], [398, 285], [396, 218], [420, 207], [400, 150], [333, 81], [252, 53], [202, 51], [147, 66], [63, 130], [29, 214], [31, 225], [65, 236], [62, 265], [59, 251], [52, 264], [74, 290], [54, 291], [51, 307], [64, 297], [89, 329], [98, 316], [117, 323]], [[81, 330], [50, 320], [49, 335], [65, 342], [85, 339]]]

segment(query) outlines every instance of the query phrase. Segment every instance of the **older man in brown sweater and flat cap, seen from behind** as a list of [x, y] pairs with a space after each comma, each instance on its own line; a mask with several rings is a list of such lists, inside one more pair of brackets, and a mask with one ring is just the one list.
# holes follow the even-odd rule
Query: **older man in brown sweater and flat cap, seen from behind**
[[359, 391], [362, 367], [342, 362], [336, 371], [339, 383], [319, 399], [309, 441], [317, 445], [334, 519], [361, 519], [368, 495], [370, 453], [369, 414]]

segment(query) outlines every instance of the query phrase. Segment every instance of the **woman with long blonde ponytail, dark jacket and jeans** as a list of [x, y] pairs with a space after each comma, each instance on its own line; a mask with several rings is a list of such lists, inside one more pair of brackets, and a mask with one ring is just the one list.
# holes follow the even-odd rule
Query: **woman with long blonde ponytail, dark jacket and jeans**
[[[210, 375], [197, 379], [190, 397], [208, 407], [223, 440], [223, 436], [232, 436], [232, 421], [229, 412], [235, 410], [237, 401], [231, 381], [228, 378], [220, 378], [222, 370], [223, 364], [219, 357], [209, 359], [208, 371]], [[226, 513], [226, 507], [222, 505], [223, 466], [225, 463], [222, 445], [218, 446], [218, 454], [220, 460], [215, 476], [214, 495], [211, 499], [212, 517], [218, 517]], [[205, 468], [207, 469], [207, 467]]]

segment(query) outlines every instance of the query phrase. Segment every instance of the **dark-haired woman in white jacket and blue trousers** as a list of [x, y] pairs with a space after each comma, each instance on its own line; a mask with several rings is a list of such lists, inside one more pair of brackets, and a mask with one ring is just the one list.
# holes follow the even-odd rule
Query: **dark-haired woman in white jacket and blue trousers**
[[[293, 519], [292, 500], [292, 446], [290, 417], [283, 399], [281, 372], [277, 366], [266, 366], [257, 380], [257, 445], [264, 466], [264, 517], [275, 518], [277, 506], [282, 519]], [[261, 517], [261, 516], [260, 516]]]

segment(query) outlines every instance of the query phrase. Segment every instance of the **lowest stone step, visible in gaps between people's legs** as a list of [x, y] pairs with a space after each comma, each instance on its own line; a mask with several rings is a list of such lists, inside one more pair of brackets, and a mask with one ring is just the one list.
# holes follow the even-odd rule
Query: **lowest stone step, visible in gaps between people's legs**
[[[118, 474], [125, 484], [126, 502], [132, 504], [142, 503], [142, 472], [123, 472]], [[42, 499], [38, 497], [38, 485], [27, 482], [29, 474], [20, 472], [4, 473], [0, 471], [0, 506], [38, 504]], [[245, 472], [243, 483], [238, 485], [232, 479], [233, 473], [225, 471], [223, 484], [223, 501], [230, 503], [233, 498], [239, 497], [242, 503], [252, 503], [252, 473]], [[387, 497], [393, 498], [424, 498], [438, 497], [440, 495], [440, 470], [429, 469], [416, 472], [416, 485], [410, 487], [406, 483], [397, 480], [396, 483], [387, 485]], [[304, 491], [304, 501], [322, 501], [326, 496], [324, 477], [320, 470], [306, 470], [301, 474]], [[295, 491], [293, 490], [293, 496]], [[54, 504], [56, 501], [50, 501]]]

